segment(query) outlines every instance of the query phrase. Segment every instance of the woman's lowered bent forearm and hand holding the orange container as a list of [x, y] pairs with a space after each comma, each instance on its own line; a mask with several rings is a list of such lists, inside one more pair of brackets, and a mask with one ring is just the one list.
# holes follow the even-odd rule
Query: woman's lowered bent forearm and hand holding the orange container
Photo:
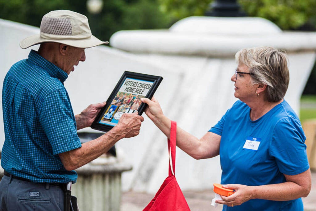
[[240, 205], [250, 199], [265, 199], [273, 201], [288, 201], [306, 197], [312, 186], [311, 171], [306, 170], [297, 175], [286, 175], [286, 182], [260, 186], [247, 186], [240, 184], [223, 185], [225, 188], [234, 189], [236, 192], [228, 197], [222, 196], [223, 200], [217, 203], [228, 206]]

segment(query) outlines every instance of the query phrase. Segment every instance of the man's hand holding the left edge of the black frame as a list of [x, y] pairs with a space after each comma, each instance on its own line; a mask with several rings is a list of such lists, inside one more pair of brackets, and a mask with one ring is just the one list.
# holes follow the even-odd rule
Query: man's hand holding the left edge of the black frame
[[86, 109], [84, 109], [80, 114], [77, 114], [75, 116], [76, 123], [77, 123], [77, 130], [80, 130], [85, 127], [90, 127], [94, 119], [100, 112], [101, 108], [103, 108], [105, 104], [106, 102], [91, 104]]

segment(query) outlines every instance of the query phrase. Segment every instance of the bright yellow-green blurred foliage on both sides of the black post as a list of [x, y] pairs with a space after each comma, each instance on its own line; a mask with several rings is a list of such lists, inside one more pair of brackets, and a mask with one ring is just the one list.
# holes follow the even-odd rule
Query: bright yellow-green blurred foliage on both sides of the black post
[[[174, 19], [204, 15], [212, 0], [159, 0], [164, 12]], [[316, 0], [239, 0], [248, 16], [266, 18], [281, 29], [316, 26]]]

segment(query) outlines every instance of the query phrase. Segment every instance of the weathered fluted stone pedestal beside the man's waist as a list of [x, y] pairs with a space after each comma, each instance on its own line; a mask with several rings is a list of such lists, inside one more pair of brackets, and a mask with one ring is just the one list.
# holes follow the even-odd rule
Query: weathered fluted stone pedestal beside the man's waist
[[121, 174], [131, 169], [131, 165], [108, 163], [108, 159], [102, 157], [78, 168], [78, 179], [71, 192], [77, 197], [80, 210], [119, 211]]

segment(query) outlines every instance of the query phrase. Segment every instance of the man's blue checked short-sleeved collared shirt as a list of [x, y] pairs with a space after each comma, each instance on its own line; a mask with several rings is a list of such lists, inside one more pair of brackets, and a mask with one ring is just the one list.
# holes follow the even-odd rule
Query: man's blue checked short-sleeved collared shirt
[[3, 81], [1, 166], [36, 183], [76, 182], [58, 154], [81, 147], [64, 81], [68, 75], [31, 50]]

